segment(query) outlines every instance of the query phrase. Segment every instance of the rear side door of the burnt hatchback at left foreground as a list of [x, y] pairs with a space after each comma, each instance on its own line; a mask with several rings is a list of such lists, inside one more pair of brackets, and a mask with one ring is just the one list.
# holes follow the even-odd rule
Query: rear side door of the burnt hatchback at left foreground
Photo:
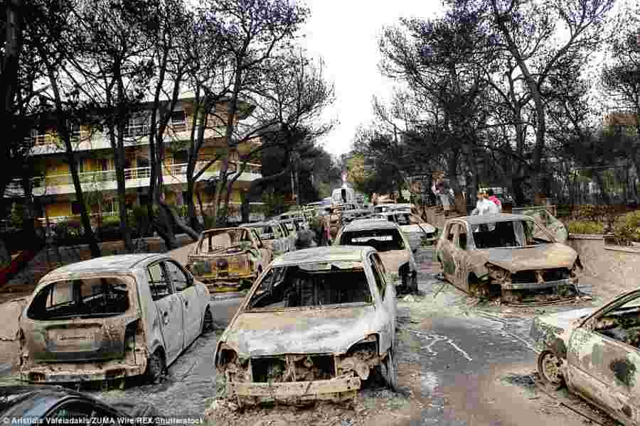
[[[184, 320], [183, 320], [183, 302], [174, 288], [173, 280], [169, 279], [169, 275], [164, 268], [165, 259], [154, 261], [146, 266], [147, 274], [149, 268], [159, 265], [164, 275], [164, 280], [168, 285], [171, 294], [162, 297], [159, 300], [152, 300], [156, 306], [158, 322], [162, 340], [164, 342], [164, 354], [166, 356], [166, 365], [169, 366], [181, 354], [185, 347]], [[151, 276], [148, 275], [150, 279]], [[161, 302], [161, 303], [159, 303]], [[176, 324], [176, 322], [178, 324]], [[171, 327], [168, 325], [171, 324]]]

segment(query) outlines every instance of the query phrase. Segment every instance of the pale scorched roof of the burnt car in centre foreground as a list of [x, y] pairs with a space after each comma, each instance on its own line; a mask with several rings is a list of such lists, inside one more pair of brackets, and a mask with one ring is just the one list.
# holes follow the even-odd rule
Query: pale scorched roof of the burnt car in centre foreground
[[330, 261], [363, 261], [370, 251], [368, 246], [323, 246], [284, 253], [272, 262], [272, 266], [291, 266], [299, 263], [321, 263]]

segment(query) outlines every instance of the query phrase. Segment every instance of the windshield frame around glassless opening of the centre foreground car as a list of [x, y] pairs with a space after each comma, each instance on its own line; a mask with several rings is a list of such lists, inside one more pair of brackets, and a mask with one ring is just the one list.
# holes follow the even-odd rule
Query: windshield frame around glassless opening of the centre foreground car
[[[329, 271], [326, 268], [321, 268], [320, 270], [315, 270], [314, 265], [330, 265]], [[343, 266], [343, 268], [339, 268], [338, 266]], [[351, 267], [349, 267], [351, 266]], [[348, 308], [348, 307], [362, 307], [375, 305], [375, 293], [371, 288], [369, 273], [367, 272], [367, 267], [370, 268], [370, 265], [367, 265], [366, 262], [363, 261], [313, 261], [313, 262], [305, 262], [299, 264], [292, 265], [278, 265], [278, 266], [270, 266], [267, 271], [265, 271], [264, 275], [262, 275], [262, 279], [256, 281], [249, 293], [247, 293], [247, 297], [245, 298], [245, 302], [242, 303], [238, 315], [241, 314], [256, 314], [261, 312], [292, 312], [292, 311], [300, 311], [300, 310], [324, 310], [327, 308], [336, 309], [336, 308]], [[274, 279], [274, 275], [270, 275], [272, 271], [275, 269], [279, 269], [279, 275], [276, 276], [276, 280], [284, 279], [284, 275], [287, 274], [288, 268], [299, 268], [307, 275], [322, 275], [329, 273], [348, 273], [354, 271], [361, 271], [364, 278], [366, 279], [366, 289], [368, 291], [369, 302], [345, 302], [345, 303], [331, 303], [326, 305], [305, 305], [305, 306], [295, 306], [295, 307], [286, 307], [286, 306], [277, 306], [277, 307], [250, 307], [253, 300], [255, 300], [255, 296], [257, 292], [262, 288], [262, 284], [267, 280], [267, 278]], [[336, 268], [340, 271], [336, 271]], [[273, 288], [274, 283], [269, 283], [270, 290]], [[262, 292], [266, 292], [266, 289], [260, 290]], [[264, 293], [262, 293], [264, 294]], [[262, 295], [261, 294], [261, 295]]]

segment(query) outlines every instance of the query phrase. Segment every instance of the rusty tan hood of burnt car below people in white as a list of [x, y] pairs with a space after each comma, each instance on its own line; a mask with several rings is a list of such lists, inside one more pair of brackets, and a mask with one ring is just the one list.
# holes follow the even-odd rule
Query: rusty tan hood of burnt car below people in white
[[577, 258], [574, 249], [558, 243], [480, 251], [487, 262], [511, 273], [532, 269], [572, 268]]

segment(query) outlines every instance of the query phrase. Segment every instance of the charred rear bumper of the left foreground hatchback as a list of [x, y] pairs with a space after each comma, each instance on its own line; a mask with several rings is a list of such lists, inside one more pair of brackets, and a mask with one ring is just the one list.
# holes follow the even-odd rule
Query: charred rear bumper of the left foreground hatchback
[[100, 364], [43, 364], [20, 371], [20, 380], [29, 383], [77, 383], [85, 381], [105, 381], [117, 378], [139, 376], [146, 370], [144, 365], [110, 363]]

